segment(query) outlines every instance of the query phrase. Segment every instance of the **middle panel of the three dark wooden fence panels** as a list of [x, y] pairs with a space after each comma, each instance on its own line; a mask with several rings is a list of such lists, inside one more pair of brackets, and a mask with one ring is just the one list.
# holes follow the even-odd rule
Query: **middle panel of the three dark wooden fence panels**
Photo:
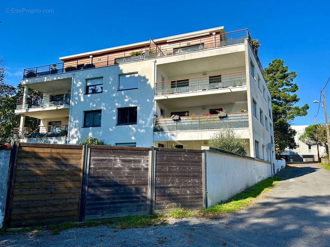
[[85, 219], [148, 214], [151, 149], [88, 147]]

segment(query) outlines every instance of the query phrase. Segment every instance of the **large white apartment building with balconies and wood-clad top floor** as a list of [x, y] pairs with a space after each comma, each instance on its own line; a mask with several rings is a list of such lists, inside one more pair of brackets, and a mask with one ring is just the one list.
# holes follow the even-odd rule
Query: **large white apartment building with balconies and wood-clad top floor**
[[[247, 29], [217, 27], [60, 60], [24, 69], [14, 130], [21, 141], [77, 144], [91, 134], [113, 145], [201, 149], [227, 126], [247, 141], [250, 156], [269, 159], [271, 95]], [[27, 99], [28, 88], [44, 97]], [[219, 118], [223, 110], [228, 115]], [[24, 116], [40, 126], [24, 128]]]

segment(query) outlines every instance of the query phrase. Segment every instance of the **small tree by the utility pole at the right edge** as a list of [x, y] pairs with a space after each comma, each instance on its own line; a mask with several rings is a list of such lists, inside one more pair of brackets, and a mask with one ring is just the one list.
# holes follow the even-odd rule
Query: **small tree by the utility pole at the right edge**
[[[327, 131], [325, 128], [325, 125], [316, 124], [316, 130], [317, 130], [317, 140], [318, 145], [323, 146], [326, 150], [328, 150], [327, 145]], [[315, 134], [315, 125], [309, 125], [305, 128], [304, 133], [299, 137], [299, 140], [303, 143], [310, 145], [310, 146], [316, 146], [316, 134]]]

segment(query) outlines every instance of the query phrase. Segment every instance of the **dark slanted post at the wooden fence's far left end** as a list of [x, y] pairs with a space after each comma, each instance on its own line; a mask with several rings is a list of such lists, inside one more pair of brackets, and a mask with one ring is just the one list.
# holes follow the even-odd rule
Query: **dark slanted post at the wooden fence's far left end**
[[6, 196], [6, 205], [5, 205], [5, 217], [9, 216], [10, 211], [10, 202], [12, 197], [12, 191], [14, 188], [14, 173], [15, 173], [15, 166], [17, 162], [17, 155], [18, 155], [18, 147], [19, 143], [14, 142], [13, 149], [10, 152], [10, 172], [9, 178], [7, 181], [7, 196]]

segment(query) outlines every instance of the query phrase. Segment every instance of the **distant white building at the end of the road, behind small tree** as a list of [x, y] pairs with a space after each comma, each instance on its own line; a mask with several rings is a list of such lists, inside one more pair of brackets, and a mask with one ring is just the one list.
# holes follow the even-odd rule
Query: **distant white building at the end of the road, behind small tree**
[[[310, 146], [299, 140], [299, 137], [304, 134], [305, 128], [309, 125], [292, 125], [291, 127], [297, 131], [294, 137], [296, 142], [295, 147], [287, 148], [285, 152], [282, 152], [283, 158], [288, 162], [294, 161], [314, 161], [317, 160], [317, 147]], [[320, 157], [326, 155], [326, 150], [323, 146], [318, 146]]]

